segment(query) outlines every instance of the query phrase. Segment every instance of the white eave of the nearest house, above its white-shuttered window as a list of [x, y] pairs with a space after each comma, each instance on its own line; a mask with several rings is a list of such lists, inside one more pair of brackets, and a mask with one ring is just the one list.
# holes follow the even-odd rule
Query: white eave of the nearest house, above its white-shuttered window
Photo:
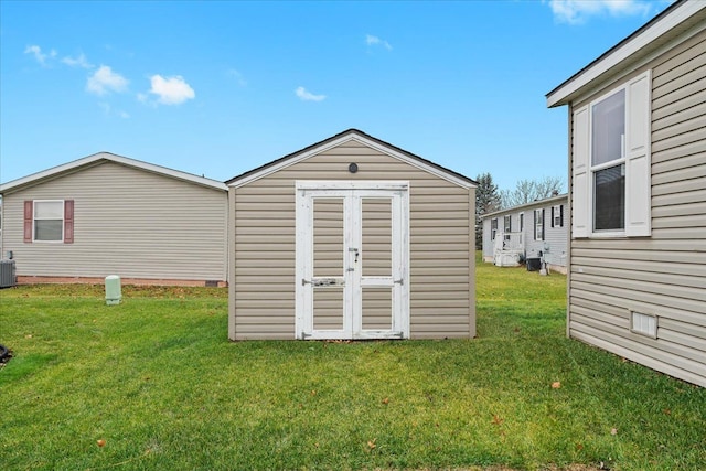
[[568, 105], [590, 83], [627, 61], [638, 61], [659, 49], [656, 40], [706, 9], [706, 1], [680, 0], [654, 17], [639, 30], [581, 68], [552, 92], [547, 93], [547, 107]]

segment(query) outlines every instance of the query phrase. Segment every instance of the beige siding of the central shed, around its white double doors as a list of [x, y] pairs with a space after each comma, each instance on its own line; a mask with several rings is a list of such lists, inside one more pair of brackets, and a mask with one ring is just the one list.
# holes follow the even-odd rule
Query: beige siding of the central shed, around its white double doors
[[231, 190], [231, 339], [295, 338], [297, 180], [409, 181], [410, 335], [474, 335], [473, 191], [351, 140]]

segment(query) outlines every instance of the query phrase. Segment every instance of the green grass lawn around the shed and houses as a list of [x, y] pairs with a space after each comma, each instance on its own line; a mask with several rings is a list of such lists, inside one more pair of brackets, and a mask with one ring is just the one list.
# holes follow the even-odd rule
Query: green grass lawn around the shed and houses
[[0, 468], [704, 469], [706, 389], [567, 340], [565, 281], [479, 263], [478, 339], [360, 343], [228, 342], [224, 289], [1, 290]]

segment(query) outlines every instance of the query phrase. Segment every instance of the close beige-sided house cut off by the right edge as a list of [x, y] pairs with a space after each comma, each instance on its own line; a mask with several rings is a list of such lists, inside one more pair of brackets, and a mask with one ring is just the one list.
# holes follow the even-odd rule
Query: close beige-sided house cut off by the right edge
[[706, 386], [706, 2], [547, 94], [569, 108], [568, 334]]

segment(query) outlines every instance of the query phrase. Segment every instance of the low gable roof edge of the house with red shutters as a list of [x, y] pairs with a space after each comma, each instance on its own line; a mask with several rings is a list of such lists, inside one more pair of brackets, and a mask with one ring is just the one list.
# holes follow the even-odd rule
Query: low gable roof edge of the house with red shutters
[[105, 162], [115, 162], [121, 165], [131, 167], [135, 169], [143, 170], [159, 175], [182, 180], [184, 182], [193, 183], [201, 186], [212, 188], [214, 190], [226, 191], [225, 183], [206, 179], [205, 176], [199, 176], [191, 173], [181, 172], [179, 170], [168, 169], [165, 167], [154, 165], [152, 163], [142, 162], [140, 160], [129, 159], [122, 156], [116, 156], [109, 152], [98, 152], [93, 156], [84, 157], [83, 159], [74, 160], [62, 165], [53, 167], [51, 169], [43, 170], [41, 172], [33, 173], [28, 176], [23, 176], [10, 182], [0, 184], [0, 194], [17, 191], [23, 188], [33, 186], [44, 181], [56, 179], [58, 176], [81, 171], [82, 169], [94, 167]]

